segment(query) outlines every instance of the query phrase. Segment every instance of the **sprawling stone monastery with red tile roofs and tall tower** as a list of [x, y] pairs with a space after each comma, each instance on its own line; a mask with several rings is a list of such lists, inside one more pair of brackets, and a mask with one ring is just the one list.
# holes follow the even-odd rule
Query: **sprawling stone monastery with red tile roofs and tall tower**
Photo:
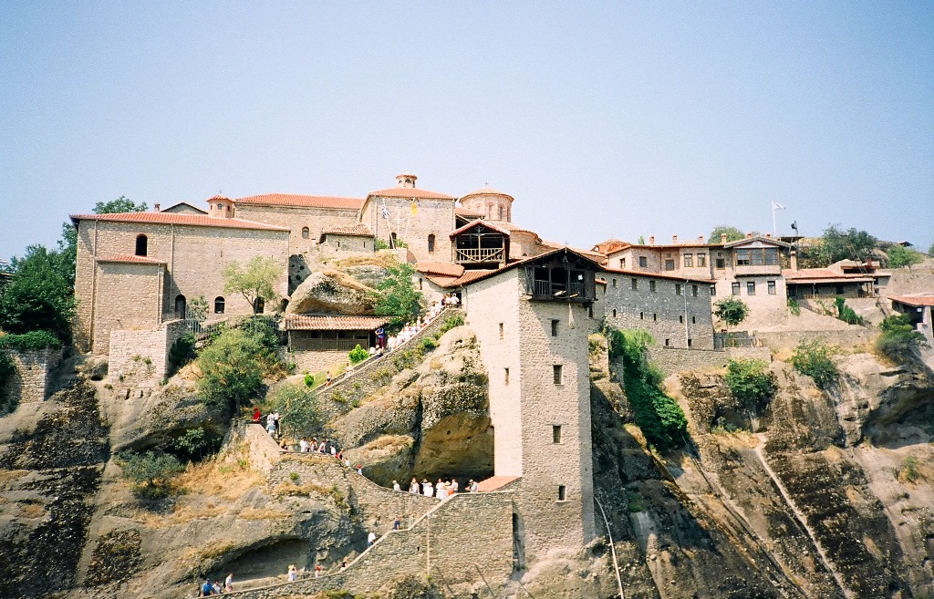
[[[596, 534], [587, 335], [605, 318], [644, 328], [672, 351], [710, 350], [716, 297], [784, 307], [779, 254], [788, 245], [765, 237], [575, 249], [513, 223], [514, 198], [501, 191], [459, 199], [416, 181], [400, 174], [365, 198], [216, 196], [206, 210], [182, 202], [72, 215], [78, 346], [109, 354], [111, 373], [131, 368], [131, 356], [151, 356], [158, 380], [192, 299], [207, 300], [208, 320], [253, 312], [224, 294], [231, 262], [263, 257], [280, 266], [281, 301], [255, 306], [271, 313], [284, 310], [319, 258], [394, 252], [416, 265], [429, 301], [460, 297], [480, 341], [495, 430], [491, 485], [516, 491], [522, 552], [533, 559], [548, 548], [580, 549]], [[292, 322], [365, 320], [297, 316]]]

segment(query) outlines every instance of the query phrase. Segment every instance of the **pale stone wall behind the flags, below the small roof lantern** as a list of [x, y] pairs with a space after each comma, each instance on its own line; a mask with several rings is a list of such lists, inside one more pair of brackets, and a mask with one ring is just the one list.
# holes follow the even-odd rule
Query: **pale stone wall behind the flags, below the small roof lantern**
[[[386, 206], [389, 218], [381, 216]], [[389, 242], [390, 233], [404, 239], [419, 260], [446, 262], [451, 256], [450, 233], [454, 227], [454, 200], [417, 200], [417, 214], [407, 198], [371, 197], [363, 207], [361, 222], [376, 239]], [[434, 235], [434, 249], [429, 251], [428, 236]]]

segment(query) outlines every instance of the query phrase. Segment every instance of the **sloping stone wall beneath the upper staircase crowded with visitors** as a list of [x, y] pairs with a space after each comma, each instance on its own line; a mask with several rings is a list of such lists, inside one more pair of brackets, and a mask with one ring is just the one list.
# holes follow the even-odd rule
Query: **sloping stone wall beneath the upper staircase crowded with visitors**
[[330, 387], [318, 387], [318, 406], [326, 420], [331, 420], [350, 410], [357, 401], [373, 394], [384, 386], [402, 369], [397, 364], [398, 356], [417, 346], [425, 337], [440, 332], [448, 318], [464, 315], [463, 311], [446, 308], [432, 322], [418, 331], [418, 334], [396, 347], [382, 357], [371, 357], [357, 365], [349, 375], [345, 375]]

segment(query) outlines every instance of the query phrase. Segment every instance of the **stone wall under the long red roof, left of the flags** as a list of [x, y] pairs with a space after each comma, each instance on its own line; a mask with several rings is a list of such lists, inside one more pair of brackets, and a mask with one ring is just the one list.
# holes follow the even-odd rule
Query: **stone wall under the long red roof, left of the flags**
[[[311, 251], [321, 238], [321, 232], [357, 224], [358, 211], [348, 208], [318, 208], [312, 206], [263, 206], [238, 203], [236, 217], [290, 229], [289, 253]], [[302, 230], [308, 229], [304, 237]]]

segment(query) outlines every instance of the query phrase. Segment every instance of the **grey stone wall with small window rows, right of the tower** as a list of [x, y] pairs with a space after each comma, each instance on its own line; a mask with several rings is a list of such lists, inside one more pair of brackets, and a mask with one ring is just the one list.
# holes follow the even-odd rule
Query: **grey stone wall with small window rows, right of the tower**
[[596, 305], [609, 324], [644, 328], [660, 346], [687, 347], [690, 340], [690, 347], [713, 349], [709, 284], [622, 272], [602, 276], [605, 294]]

